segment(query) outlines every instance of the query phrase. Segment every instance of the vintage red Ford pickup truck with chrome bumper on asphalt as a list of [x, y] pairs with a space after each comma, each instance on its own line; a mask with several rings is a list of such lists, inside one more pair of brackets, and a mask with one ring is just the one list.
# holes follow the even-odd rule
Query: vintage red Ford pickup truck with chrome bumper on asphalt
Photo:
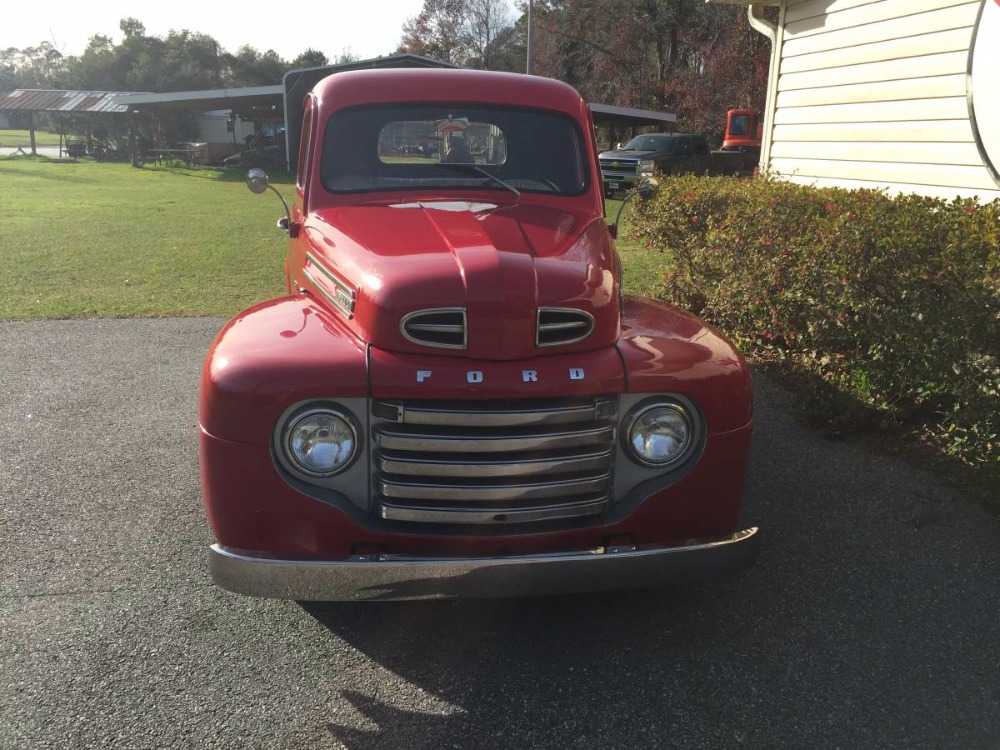
[[215, 581], [500, 597], [752, 564], [746, 365], [623, 296], [580, 95], [372, 70], [304, 106], [287, 294], [230, 321], [202, 374]]

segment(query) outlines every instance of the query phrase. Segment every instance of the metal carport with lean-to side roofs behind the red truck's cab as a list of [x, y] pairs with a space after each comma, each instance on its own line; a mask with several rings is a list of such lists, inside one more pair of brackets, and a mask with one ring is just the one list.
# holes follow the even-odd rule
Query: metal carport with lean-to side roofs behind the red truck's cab
[[[378, 57], [371, 60], [327, 65], [320, 68], [292, 70], [285, 74], [284, 81], [275, 86], [252, 88], [213, 89], [205, 91], [180, 91], [168, 94], [123, 94], [116, 102], [126, 106], [131, 113], [229, 110], [234, 115], [254, 120], [280, 120], [286, 126], [286, 158], [289, 165], [298, 158], [299, 133], [302, 129], [302, 98], [320, 80], [333, 73], [368, 68], [457, 68], [452, 63], [442, 62], [420, 55], [399, 54]], [[615, 138], [626, 131], [635, 132], [641, 127], [672, 129], [677, 116], [672, 112], [657, 112], [630, 107], [616, 107], [607, 104], [590, 104], [594, 123], [607, 127], [609, 147]]]

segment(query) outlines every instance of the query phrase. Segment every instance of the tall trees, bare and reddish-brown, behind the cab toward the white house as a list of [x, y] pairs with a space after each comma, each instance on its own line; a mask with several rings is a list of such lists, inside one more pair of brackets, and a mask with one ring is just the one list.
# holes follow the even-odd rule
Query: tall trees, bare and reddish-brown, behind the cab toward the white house
[[[516, 17], [509, 7], [508, 0], [424, 0], [399, 51], [524, 72], [527, 6]], [[671, 111], [679, 129], [713, 139], [727, 109], [763, 109], [770, 43], [750, 27], [745, 6], [534, 0], [532, 22], [531, 72], [566, 81], [588, 101]]]

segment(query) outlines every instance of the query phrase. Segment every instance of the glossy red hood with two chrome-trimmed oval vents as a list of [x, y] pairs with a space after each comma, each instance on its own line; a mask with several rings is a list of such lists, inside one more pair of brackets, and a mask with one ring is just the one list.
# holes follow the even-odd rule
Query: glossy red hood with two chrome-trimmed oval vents
[[324, 209], [298, 245], [293, 282], [385, 351], [506, 360], [618, 338], [618, 260], [600, 216], [400, 200]]

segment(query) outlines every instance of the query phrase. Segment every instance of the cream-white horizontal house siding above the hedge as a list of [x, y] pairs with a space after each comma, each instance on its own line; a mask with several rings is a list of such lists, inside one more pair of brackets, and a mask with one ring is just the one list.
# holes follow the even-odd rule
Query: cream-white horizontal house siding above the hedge
[[969, 120], [980, 5], [788, 0], [770, 170], [806, 184], [1000, 198]]

